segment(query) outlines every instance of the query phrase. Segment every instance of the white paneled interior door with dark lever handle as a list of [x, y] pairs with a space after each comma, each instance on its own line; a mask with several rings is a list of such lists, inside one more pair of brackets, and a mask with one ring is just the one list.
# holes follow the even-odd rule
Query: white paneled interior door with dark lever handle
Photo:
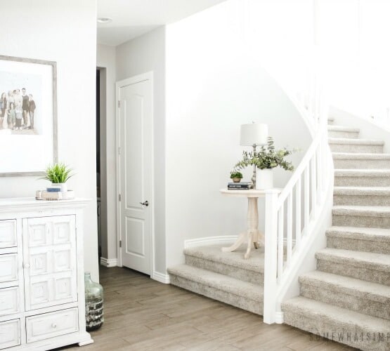
[[152, 74], [117, 82], [119, 232], [122, 265], [150, 274]]

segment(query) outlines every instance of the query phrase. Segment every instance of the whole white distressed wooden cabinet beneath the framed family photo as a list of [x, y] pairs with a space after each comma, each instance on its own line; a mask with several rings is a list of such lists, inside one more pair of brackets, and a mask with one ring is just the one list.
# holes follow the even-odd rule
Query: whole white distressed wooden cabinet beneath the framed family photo
[[93, 343], [85, 331], [86, 204], [0, 199], [0, 350]]

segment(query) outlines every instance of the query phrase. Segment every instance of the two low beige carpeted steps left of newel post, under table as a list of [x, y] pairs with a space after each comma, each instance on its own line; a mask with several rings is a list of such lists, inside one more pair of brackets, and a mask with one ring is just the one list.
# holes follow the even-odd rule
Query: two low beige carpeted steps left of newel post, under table
[[246, 251], [246, 245], [230, 253], [222, 252], [221, 245], [185, 249], [186, 264], [168, 269], [170, 282], [242, 310], [263, 314], [264, 248], [252, 250], [247, 260]]

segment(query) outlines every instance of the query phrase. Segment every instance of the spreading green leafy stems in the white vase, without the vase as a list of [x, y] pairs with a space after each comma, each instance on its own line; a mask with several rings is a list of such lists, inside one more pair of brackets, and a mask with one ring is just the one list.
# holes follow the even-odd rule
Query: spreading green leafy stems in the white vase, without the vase
[[290, 161], [286, 161], [285, 157], [296, 151], [297, 150], [287, 150], [286, 147], [280, 150], [275, 150], [273, 138], [268, 137], [267, 145], [262, 146], [259, 151], [242, 152], [242, 160], [235, 164], [233, 171], [240, 171], [247, 166], [253, 165], [256, 165], [259, 169], [281, 167], [286, 171], [294, 171], [294, 166]]

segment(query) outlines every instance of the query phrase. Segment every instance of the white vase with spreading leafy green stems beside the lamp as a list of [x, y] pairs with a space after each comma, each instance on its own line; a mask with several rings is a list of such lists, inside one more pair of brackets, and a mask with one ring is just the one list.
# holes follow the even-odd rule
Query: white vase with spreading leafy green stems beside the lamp
[[242, 161], [235, 164], [234, 169], [243, 169], [247, 166], [256, 166], [256, 190], [264, 190], [273, 187], [272, 168], [281, 167], [286, 171], [294, 171], [294, 166], [285, 157], [297, 150], [283, 148], [275, 150], [273, 138], [268, 137], [268, 143], [256, 152], [242, 152]]

